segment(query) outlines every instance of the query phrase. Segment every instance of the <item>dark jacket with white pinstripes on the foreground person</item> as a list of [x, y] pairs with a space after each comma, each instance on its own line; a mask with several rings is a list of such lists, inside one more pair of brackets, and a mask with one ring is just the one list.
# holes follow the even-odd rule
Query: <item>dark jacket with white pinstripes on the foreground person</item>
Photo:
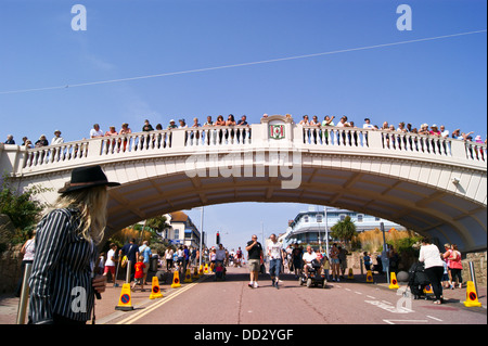
[[31, 323], [52, 321], [53, 313], [88, 321], [94, 304], [91, 273], [97, 252], [78, 234], [78, 209], [55, 209], [37, 228], [29, 278]]

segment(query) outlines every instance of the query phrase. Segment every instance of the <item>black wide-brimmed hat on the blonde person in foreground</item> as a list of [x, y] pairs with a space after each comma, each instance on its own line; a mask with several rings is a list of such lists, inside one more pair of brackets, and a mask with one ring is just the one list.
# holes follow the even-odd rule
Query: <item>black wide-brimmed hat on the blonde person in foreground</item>
[[110, 182], [100, 166], [89, 166], [75, 168], [72, 171], [72, 180], [66, 182], [59, 193], [67, 193], [76, 190], [93, 187], [107, 185], [118, 187], [118, 182]]

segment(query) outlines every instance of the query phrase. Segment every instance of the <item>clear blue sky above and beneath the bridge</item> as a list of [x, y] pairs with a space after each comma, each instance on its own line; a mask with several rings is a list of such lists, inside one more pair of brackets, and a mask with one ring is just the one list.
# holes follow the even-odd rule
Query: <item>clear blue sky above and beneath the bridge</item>
[[[87, 9], [85, 31], [72, 29], [76, 3]], [[396, 26], [402, 3], [412, 9], [409, 31]], [[55, 129], [74, 141], [87, 138], [94, 123], [118, 130], [127, 121], [136, 131], [145, 118], [166, 127], [170, 118], [230, 113], [253, 123], [264, 113], [290, 113], [296, 120], [347, 115], [359, 126], [365, 116], [378, 126], [444, 124], [485, 139], [486, 31], [26, 90], [484, 30], [486, 13], [485, 0], [0, 0], [0, 141], [9, 133], [17, 142], [50, 140]], [[285, 228], [296, 213], [271, 219]]]

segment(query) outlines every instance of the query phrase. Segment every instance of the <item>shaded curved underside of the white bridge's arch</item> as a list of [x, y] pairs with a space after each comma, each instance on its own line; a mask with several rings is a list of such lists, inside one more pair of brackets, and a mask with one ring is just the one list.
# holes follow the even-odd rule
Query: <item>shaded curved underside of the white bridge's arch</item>
[[[151, 163], [150, 163], [151, 165]], [[463, 252], [486, 249], [486, 205], [461, 194], [394, 175], [303, 165], [300, 184], [283, 189], [288, 178], [242, 175], [189, 177], [184, 171], [143, 177], [144, 164], [132, 164], [139, 180], [127, 180], [127, 167], [108, 164], [110, 176], [123, 182], [110, 190], [107, 235], [138, 221], [202, 205], [237, 202], [293, 202], [328, 205], [377, 216], [431, 236], [455, 243]], [[154, 171], [154, 163], [152, 164]], [[275, 167], [274, 167], [275, 168]], [[126, 171], [121, 174], [121, 171]], [[256, 172], [256, 167], [254, 167]], [[452, 174], [452, 172], [450, 172]], [[422, 180], [422, 179], [420, 179]], [[428, 180], [428, 179], [424, 179]], [[290, 216], [283, 216], [284, 222]], [[283, 225], [283, 229], [285, 225]]]

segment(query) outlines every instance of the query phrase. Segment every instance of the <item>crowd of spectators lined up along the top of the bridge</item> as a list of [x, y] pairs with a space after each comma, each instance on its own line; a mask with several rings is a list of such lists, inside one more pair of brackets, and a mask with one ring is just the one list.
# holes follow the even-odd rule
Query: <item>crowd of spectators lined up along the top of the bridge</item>
[[[268, 114], [262, 115], [264, 118], [268, 117]], [[286, 114], [286, 117], [291, 117], [292, 115]], [[334, 123], [334, 119], [336, 117], [334, 115], [325, 115], [323, 120], [320, 120], [317, 115], [313, 115], [311, 119], [308, 115], [304, 115], [298, 123], [303, 126], [310, 126], [310, 127], [337, 127], [337, 128], [358, 128], [358, 126], [355, 124], [354, 120], [349, 120], [347, 116], [343, 115], [336, 123]], [[293, 119], [293, 118], [292, 118]], [[227, 117], [227, 120], [222, 115], [218, 115], [216, 117], [216, 120], [213, 119], [213, 116], [207, 116], [206, 121], [202, 125], [197, 117], [193, 118], [193, 123], [188, 125], [184, 118], [180, 118], [178, 120], [179, 125], [176, 124], [175, 119], [170, 119], [168, 125], [164, 127], [162, 124], [157, 124], [155, 128], [151, 125], [150, 120], [145, 120], [144, 125], [142, 126], [141, 131], [142, 132], [149, 132], [149, 131], [157, 131], [157, 130], [171, 130], [177, 128], [200, 128], [200, 127], [218, 127], [218, 126], [248, 126], [247, 117], [246, 115], [242, 115], [239, 120], [235, 120], [235, 117], [233, 114], [229, 114]], [[474, 131], [461, 131], [460, 128], [457, 128], [452, 131], [446, 129], [444, 125], [437, 126], [436, 124], [428, 125], [426, 123], [421, 124], [419, 127], [413, 127], [410, 123], [400, 121], [398, 126], [395, 126], [394, 124], [389, 124], [388, 121], [383, 121], [381, 126], [373, 125], [371, 119], [369, 117], [364, 118], [364, 121], [360, 128], [363, 129], [370, 129], [370, 130], [383, 130], [383, 131], [395, 131], [395, 132], [401, 132], [401, 133], [418, 133], [418, 134], [426, 134], [426, 136], [435, 136], [439, 138], [450, 138], [455, 140], [463, 140], [463, 141], [472, 141], [476, 143], [487, 143], [487, 139], [483, 140], [480, 134], [477, 134], [473, 137]], [[112, 137], [112, 136], [120, 136], [120, 134], [128, 134], [132, 133], [131, 128], [129, 127], [129, 124], [124, 123], [121, 124], [120, 129], [117, 131], [115, 126], [110, 126], [108, 130], [104, 131], [102, 130], [101, 126], [99, 124], [94, 124], [93, 128], [89, 131], [89, 138], [100, 138], [100, 137]], [[64, 139], [61, 137], [61, 131], [55, 130], [54, 137], [51, 139], [51, 142], [48, 141], [46, 134], [41, 134], [38, 140], [36, 140], [34, 143], [31, 140], [29, 140], [27, 137], [23, 137], [22, 144], [23, 146], [26, 146], [28, 149], [33, 148], [39, 148], [39, 146], [46, 146], [46, 145], [53, 145], [63, 143]], [[5, 144], [16, 144], [14, 140], [13, 134], [8, 134], [7, 140], [4, 141]]]

